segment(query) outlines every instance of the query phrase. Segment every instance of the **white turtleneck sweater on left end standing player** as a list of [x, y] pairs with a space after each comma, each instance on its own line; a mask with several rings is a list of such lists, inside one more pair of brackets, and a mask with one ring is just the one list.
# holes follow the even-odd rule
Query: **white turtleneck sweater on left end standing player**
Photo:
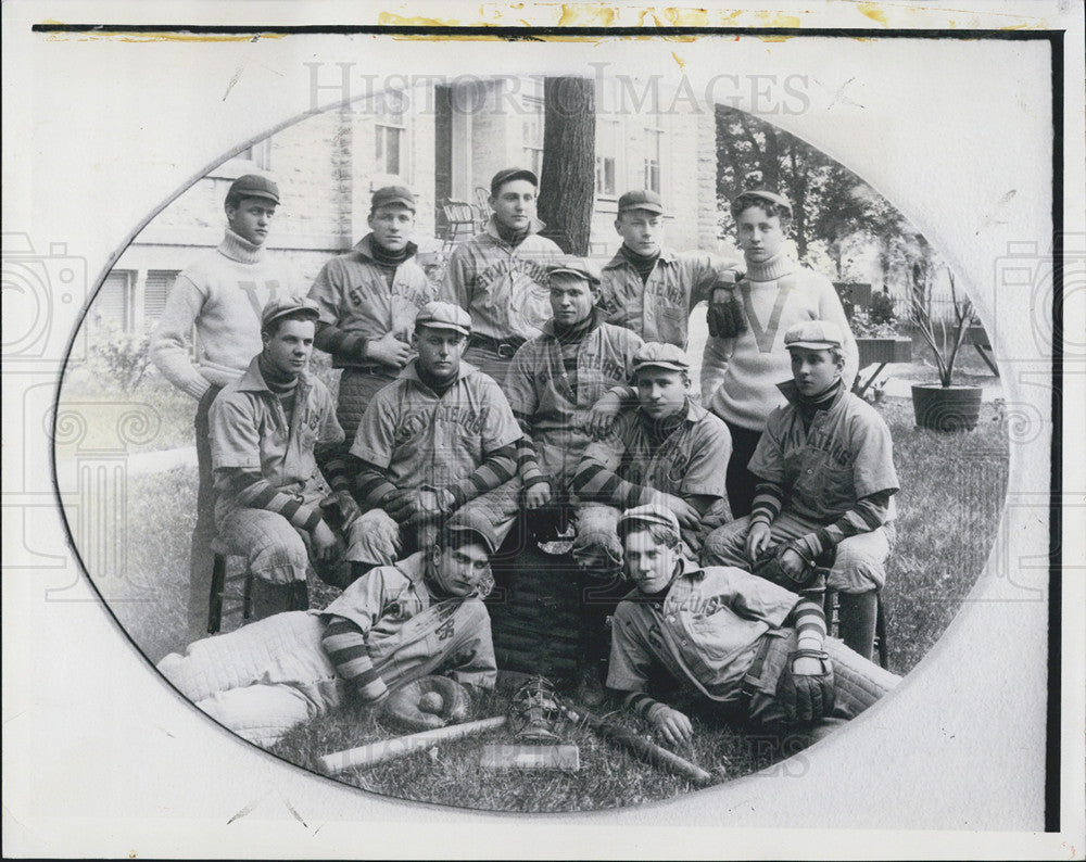
[[[299, 295], [290, 265], [267, 257], [227, 228], [219, 246], [182, 270], [151, 334], [151, 362], [171, 383], [200, 398], [236, 380], [261, 352], [261, 312], [285, 293]], [[197, 328], [197, 360], [188, 341]]]

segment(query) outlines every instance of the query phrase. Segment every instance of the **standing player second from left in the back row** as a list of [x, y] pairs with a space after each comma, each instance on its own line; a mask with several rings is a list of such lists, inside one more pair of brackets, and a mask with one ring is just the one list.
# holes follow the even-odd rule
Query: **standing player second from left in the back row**
[[435, 299], [416, 262], [415, 195], [403, 186], [374, 192], [370, 232], [346, 254], [324, 265], [310, 288], [320, 308], [318, 350], [342, 368], [336, 417], [354, 440], [366, 405], [411, 359], [411, 337], [418, 309]]

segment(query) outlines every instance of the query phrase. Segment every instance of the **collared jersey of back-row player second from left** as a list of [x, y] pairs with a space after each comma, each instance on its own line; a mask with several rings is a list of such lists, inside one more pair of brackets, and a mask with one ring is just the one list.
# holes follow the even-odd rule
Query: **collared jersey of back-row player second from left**
[[[310, 299], [320, 306], [321, 322], [346, 334], [376, 340], [395, 332], [409, 343], [415, 316], [437, 299], [437, 286], [429, 282], [414, 257], [408, 257], [396, 267], [390, 289], [382, 268], [374, 261], [371, 238], [363, 237], [352, 251], [326, 263], [310, 288]], [[346, 363], [333, 356], [332, 365], [341, 368]]]

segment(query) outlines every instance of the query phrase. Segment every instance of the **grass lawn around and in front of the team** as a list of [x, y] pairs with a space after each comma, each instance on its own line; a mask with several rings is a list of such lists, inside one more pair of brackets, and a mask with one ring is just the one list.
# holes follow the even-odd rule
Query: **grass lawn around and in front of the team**
[[[884, 603], [891, 669], [904, 674], [946, 630], [992, 548], [1006, 495], [1007, 431], [987, 404], [977, 429], [963, 434], [915, 429], [908, 401], [886, 398], [877, 408], [893, 433], [901, 484], [897, 545], [888, 565]], [[123, 576], [96, 576], [96, 582], [135, 643], [156, 662], [181, 646], [195, 468], [129, 476], [127, 494]], [[311, 583], [315, 607], [326, 606], [336, 593], [318, 581]], [[805, 736], [782, 740], [755, 735], [721, 724], [684, 698], [677, 697], [674, 702], [689, 708], [696, 730], [693, 751], [680, 753], [712, 772], [717, 781], [765, 770], [808, 741]], [[477, 705], [477, 714], [501, 714], [506, 703], [507, 692], [490, 695]], [[637, 720], [618, 718], [627, 726], [648, 732]], [[290, 762], [312, 768], [316, 757], [392, 735], [372, 715], [343, 710], [295, 728], [274, 750]], [[512, 736], [505, 730], [492, 731], [353, 770], [340, 778], [405, 799], [531, 812], [629, 806], [695, 789], [586, 728], [567, 728], [567, 741], [580, 747], [582, 765], [577, 773], [483, 770], [479, 757], [488, 741], [510, 743]], [[780, 769], [794, 769], [796, 763], [801, 760]]]

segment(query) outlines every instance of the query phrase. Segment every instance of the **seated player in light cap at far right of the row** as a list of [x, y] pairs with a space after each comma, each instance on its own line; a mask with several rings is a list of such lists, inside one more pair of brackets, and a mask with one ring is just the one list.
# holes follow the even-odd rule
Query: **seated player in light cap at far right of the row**
[[829, 320], [785, 332], [793, 379], [780, 385], [787, 403], [770, 414], [750, 459], [754, 509], [714, 532], [702, 559], [750, 568], [772, 552], [782, 576], [801, 582], [816, 560], [832, 557], [828, 585], [839, 593], [841, 636], [870, 658], [898, 483], [886, 422], [842, 379], [844, 344]]

